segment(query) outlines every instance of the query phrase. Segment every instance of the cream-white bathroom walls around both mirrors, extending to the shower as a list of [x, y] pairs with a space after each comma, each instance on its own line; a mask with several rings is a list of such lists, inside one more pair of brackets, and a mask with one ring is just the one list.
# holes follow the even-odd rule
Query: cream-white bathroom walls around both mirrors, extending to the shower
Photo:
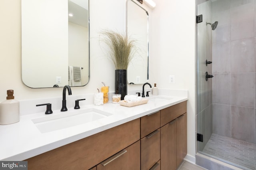
[[[191, 0], [155, 1], [149, 12], [149, 82], [159, 88], [186, 89], [188, 100], [188, 154], [195, 156], [195, 2]], [[90, 71], [85, 87], [72, 87], [72, 94], [94, 93], [102, 81], [114, 91], [114, 65], [99, 42], [100, 29], [125, 31], [125, 0], [90, 1]], [[8, 15], [7, 15], [8, 14]], [[16, 99], [61, 97], [62, 88], [30, 89], [21, 80], [20, 0], [0, 1], [0, 101], [6, 90], [14, 89]], [[175, 83], [168, 82], [175, 75]], [[128, 90], [142, 85], [128, 86]], [[192, 160], [194, 161], [194, 160]]]

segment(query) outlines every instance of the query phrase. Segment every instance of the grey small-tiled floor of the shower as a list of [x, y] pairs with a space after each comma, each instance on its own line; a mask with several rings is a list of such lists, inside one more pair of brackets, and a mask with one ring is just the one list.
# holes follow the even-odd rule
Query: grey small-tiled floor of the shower
[[211, 156], [256, 170], [256, 144], [227, 136], [212, 134], [202, 151]]

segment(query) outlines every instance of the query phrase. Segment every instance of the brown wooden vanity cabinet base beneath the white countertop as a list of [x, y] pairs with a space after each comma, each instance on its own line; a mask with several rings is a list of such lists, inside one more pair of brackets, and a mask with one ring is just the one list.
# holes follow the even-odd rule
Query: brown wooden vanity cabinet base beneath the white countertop
[[176, 170], [186, 153], [184, 101], [26, 161], [29, 170]]

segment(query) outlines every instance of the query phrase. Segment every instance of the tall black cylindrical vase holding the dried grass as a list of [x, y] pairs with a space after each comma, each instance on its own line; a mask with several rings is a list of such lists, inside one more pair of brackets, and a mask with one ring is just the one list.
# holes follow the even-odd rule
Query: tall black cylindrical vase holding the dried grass
[[127, 70], [115, 70], [115, 93], [121, 94], [121, 100], [127, 95]]

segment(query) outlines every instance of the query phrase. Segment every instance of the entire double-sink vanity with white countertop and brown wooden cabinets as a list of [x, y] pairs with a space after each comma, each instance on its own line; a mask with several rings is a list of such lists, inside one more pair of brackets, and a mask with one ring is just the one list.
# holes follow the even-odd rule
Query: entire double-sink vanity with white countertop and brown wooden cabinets
[[176, 169], [187, 147], [188, 97], [180, 92], [160, 90], [135, 107], [89, 103], [23, 115], [0, 126], [0, 160], [26, 160], [29, 169]]

